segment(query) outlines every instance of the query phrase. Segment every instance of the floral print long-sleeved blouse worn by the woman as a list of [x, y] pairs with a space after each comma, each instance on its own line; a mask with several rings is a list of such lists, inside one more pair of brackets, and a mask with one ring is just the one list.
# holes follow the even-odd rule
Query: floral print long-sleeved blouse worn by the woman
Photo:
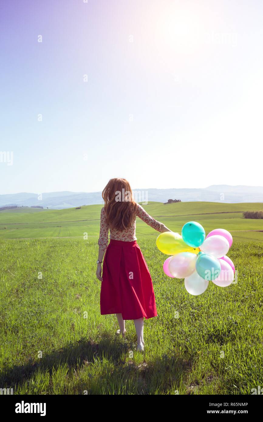
[[[152, 216], [146, 213], [144, 208], [137, 203], [137, 210], [136, 210], [136, 216], [139, 217], [141, 220], [143, 220], [146, 224], [151, 226], [153, 229], [157, 230], [158, 232], [161, 232], [163, 223], [160, 223], [159, 221], [155, 220]], [[128, 227], [125, 230], [117, 230], [117, 229], [111, 229], [110, 230], [110, 239], [114, 240], [122, 240], [125, 242], [132, 242], [137, 240], [135, 235], [136, 230], [136, 216], [134, 216], [134, 222], [131, 225], [131, 227]], [[103, 251], [106, 250], [106, 247], [108, 246], [108, 223], [107, 218], [105, 214], [105, 208], [101, 208], [100, 212], [100, 238], [98, 241], [98, 245], [100, 246], [100, 249]]]

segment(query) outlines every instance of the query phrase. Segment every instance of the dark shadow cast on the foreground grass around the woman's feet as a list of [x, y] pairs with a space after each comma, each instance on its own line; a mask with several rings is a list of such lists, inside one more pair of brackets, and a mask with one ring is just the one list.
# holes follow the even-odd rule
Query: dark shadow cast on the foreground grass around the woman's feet
[[[167, 355], [148, 360], [146, 352], [144, 358], [139, 359], [141, 363], [136, 364], [130, 354], [131, 350], [134, 354], [138, 353], [134, 344], [119, 338], [114, 340], [107, 333], [101, 335], [98, 343], [81, 338], [76, 343], [70, 343], [42, 357], [38, 362], [31, 360], [25, 365], [5, 368], [0, 374], [0, 387], [16, 390], [19, 385], [29, 383], [37, 371], [49, 372], [52, 377], [52, 373], [65, 364], [78, 373], [84, 366], [91, 368], [101, 363], [98, 374], [96, 371], [95, 374], [86, 374], [88, 381], [80, 377], [74, 383], [75, 394], [176, 394], [176, 386], [179, 389], [181, 381], [186, 379], [191, 369], [190, 362]], [[42, 394], [53, 394], [52, 387]], [[68, 394], [67, 386], [62, 394]]]

